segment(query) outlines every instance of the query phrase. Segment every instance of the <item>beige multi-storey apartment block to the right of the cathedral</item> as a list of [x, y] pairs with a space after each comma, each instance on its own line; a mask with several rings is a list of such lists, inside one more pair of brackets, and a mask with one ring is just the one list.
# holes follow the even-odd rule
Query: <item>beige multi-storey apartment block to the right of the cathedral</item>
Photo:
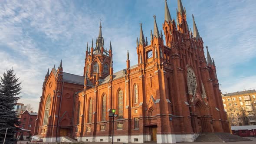
[[222, 95], [231, 126], [256, 125], [256, 91], [245, 90]]

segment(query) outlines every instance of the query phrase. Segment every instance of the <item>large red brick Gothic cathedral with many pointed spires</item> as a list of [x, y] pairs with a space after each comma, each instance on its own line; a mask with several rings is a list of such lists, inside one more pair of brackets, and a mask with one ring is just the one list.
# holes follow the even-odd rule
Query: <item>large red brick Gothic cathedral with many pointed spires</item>
[[156, 16], [150, 41], [142, 24], [137, 39], [138, 64], [113, 73], [112, 45], [104, 46], [102, 25], [85, 52], [83, 76], [63, 72], [62, 62], [47, 72], [36, 120], [36, 137], [43, 141], [194, 141], [200, 132], [230, 132], [223, 108], [216, 67], [193, 17], [188, 28], [186, 10], [178, 0], [177, 20], [165, 1], [163, 32]]

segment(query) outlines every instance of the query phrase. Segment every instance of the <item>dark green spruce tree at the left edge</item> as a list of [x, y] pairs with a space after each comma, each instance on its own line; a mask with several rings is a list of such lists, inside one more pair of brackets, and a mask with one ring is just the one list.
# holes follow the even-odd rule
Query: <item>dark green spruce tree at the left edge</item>
[[3, 144], [6, 128], [8, 128], [5, 144], [14, 144], [16, 127], [20, 125], [14, 106], [20, 97], [21, 82], [16, 78], [13, 69], [7, 70], [0, 77], [0, 144]]

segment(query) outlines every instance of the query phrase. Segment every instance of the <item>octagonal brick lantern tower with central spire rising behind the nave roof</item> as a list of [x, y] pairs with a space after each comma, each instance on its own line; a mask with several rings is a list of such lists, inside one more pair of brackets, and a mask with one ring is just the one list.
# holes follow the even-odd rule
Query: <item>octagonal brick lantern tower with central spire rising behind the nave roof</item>
[[104, 79], [111, 74], [112, 70], [112, 45], [110, 42], [109, 50], [104, 49], [104, 39], [102, 37], [102, 23], [100, 22], [99, 34], [96, 38], [96, 46], [89, 48], [88, 52], [88, 42], [85, 52], [85, 87], [86, 85], [95, 85], [100, 79]]

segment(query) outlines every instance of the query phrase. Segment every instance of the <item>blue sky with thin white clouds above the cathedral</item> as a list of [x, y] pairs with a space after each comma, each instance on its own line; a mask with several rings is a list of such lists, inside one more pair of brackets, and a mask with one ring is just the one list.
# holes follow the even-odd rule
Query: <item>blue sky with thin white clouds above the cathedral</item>
[[[256, 1], [182, 0], [187, 21], [192, 14], [217, 66], [220, 89], [225, 92], [256, 89]], [[176, 20], [177, 0], [167, 0]], [[38, 110], [44, 76], [59, 65], [64, 72], [82, 75], [86, 43], [98, 36], [102, 20], [105, 48], [113, 46], [114, 72], [138, 62], [139, 23], [150, 37], [156, 15], [164, 22], [164, 0], [0, 0], [0, 74], [16, 71], [22, 81], [20, 102]], [[57, 67], [56, 66], [56, 67]]]

